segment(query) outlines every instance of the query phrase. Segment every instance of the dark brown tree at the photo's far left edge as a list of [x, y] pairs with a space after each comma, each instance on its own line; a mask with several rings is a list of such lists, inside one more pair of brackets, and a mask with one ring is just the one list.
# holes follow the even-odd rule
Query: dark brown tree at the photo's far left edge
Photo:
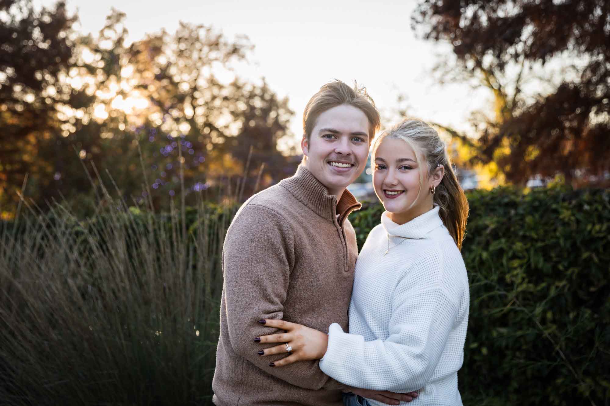
[[76, 124], [60, 112], [89, 100], [62, 80], [73, 57], [75, 21], [63, 2], [34, 10], [30, 1], [2, 0], [0, 15], [1, 204], [18, 199], [26, 173], [41, 193], [55, 182], [67, 129]]

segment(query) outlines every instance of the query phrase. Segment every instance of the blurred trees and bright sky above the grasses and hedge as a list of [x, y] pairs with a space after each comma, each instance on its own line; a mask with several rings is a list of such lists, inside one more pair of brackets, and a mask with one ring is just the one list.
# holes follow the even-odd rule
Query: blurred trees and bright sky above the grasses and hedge
[[95, 169], [134, 205], [167, 207], [181, 170], [187, 202], [241, 176], [248, 196], [294, 172], [333, 78], [384, 126], [436, 124], [465, 189], [607, 185], [609, 24], [606, 1], [2, 0], [1, 215], [26, 174], [83, 215]]

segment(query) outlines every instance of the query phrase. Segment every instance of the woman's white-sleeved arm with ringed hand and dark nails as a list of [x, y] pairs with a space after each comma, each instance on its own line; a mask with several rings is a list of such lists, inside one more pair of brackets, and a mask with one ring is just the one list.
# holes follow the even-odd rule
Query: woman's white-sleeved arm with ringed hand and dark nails
[[429, 382], [457, 313], [457, 305], [443, 288], [413, 292], [401, 290], [399, 284], [389, 322], [390, 335], [385, 341], [364, 341], [362, 335], [345, 333], [336, 323], [331, 324], [326, 335], [300, 324], [267, 319], [265, 326], [286, 333], [257, 338], [261, 343], [282, 343], [259, 351], [259, 355], [287, 352], [283, 344], [287, 343], [292, 347], [291, 354], [274, 361], [274, 366], [322, 358], [322, 371], [346, 385], [414, 391]]

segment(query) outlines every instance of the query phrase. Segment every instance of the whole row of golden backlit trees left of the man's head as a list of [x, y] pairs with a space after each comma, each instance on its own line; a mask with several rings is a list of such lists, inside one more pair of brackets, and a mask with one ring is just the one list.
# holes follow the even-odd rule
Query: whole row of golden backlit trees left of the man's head
[[[247, 196], [257, 179], [264, 187], [293, 172], [277, 148], [289, 135], [287, 100], [264, 80], [232, 73], [253, 49], [246, 38], [181, 24], [174, 34], [162, 30], [126, 45], [125, 15], [117, 10], [94, 37], [71, 29], [76, 16], [68, 18], [63, 3], [37, 12], [29, 0], [15, 1], [5, 2], [13, 9], [2, 35], [16, 45], [4, 45], [12, 54], [0, 65], [0, 125], [12, 126], [0, 140], [0, 199], [17, 198], [26, 173], [27, 195], [37, 203], [56, 196], [81, 201], [91, 180], [101, 197], [93, 169], [108, 185], [110, 175], [128, 203], [150, 199], [158, 207], [181, 188], [188, 195], [244, 176]], [[17, 47], [40, 37], [32, 28], [39, 20], [56, 27], [56, 37], [65, 39], [56, 48], [65, 54], [46, 55], [44, 43], [32, 55]], [[32, 71], [19, 71], [29, 59]], [[29, 84], [30, 76], [41, 84]]]

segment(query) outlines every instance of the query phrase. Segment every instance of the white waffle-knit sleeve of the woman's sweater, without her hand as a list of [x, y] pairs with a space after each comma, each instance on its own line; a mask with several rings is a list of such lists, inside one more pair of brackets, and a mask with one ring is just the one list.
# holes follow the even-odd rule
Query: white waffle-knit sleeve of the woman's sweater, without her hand
[[423, 388], [431, 380], [458, 307], [439, 285], [406, 285], [403, 279], [395, 290], [385, 341], [364, 341], [362, 335], [331, 324], [322, 371], [356, 388], [401, 393]]

